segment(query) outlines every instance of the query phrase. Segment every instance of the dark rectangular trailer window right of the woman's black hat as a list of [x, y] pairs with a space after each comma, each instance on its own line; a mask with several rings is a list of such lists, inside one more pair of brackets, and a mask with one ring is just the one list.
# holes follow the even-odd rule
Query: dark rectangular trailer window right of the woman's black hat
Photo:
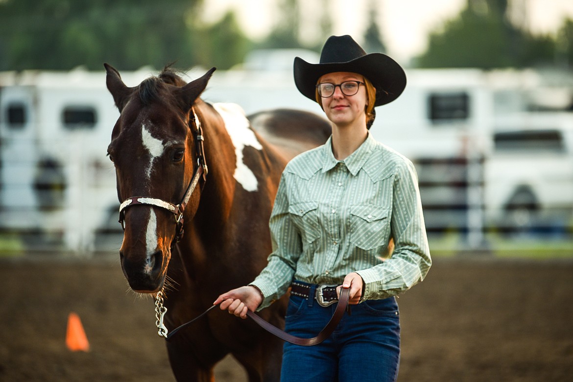
[[429, 97], [429, 118], [434, 123], [469, 117], [468, 93], [434, 93]]

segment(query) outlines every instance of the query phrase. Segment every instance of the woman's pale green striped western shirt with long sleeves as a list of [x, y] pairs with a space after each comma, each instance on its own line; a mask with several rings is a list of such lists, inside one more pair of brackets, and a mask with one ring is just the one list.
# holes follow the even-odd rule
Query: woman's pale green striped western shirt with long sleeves
[[410, 289], [430, 268], [410, 160], [370, 134], [337, 160], [331, 141], [296, 156], [282, 173], [270, 215], [273, 252], [252, 282], [265, 296], [259, 309], [285, 294], [293, 279], [340, 285], [355, 271], [364, 279], [362, 299], [377, 300]]

